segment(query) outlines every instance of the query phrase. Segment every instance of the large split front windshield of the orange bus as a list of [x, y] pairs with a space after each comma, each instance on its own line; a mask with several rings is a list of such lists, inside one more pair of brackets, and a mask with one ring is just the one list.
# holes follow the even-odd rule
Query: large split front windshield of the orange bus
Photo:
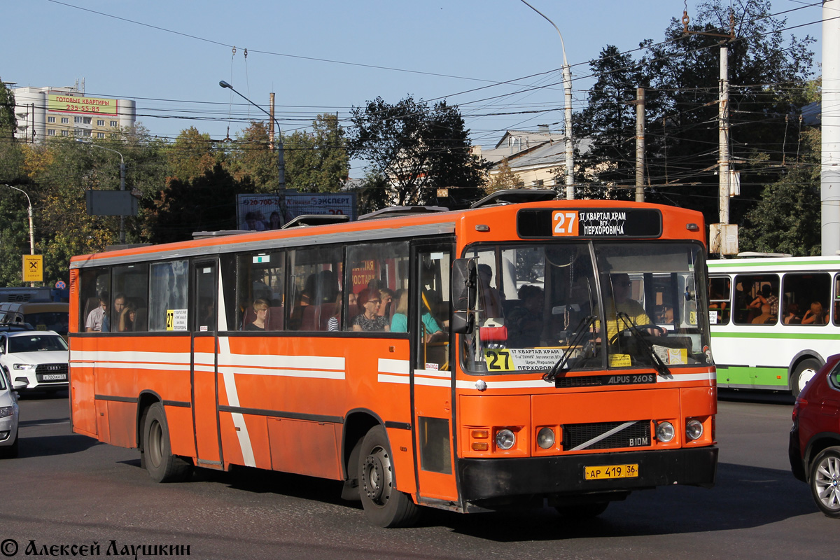
[[465, 257], [478, 263], [468, 371], [711, 364], [699, 244], [475, 245]]

